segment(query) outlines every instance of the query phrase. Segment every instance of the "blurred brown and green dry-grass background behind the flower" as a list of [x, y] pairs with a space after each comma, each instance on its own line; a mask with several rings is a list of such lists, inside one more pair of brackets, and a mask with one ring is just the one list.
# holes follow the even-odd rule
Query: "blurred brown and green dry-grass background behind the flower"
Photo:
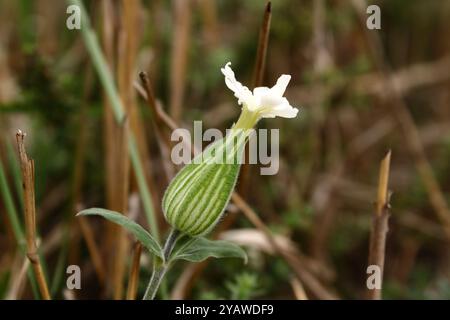
[[[128, 296], [139, 256], [134, 240], [75, 213], [104, 207], [149, 227], [128, 161], [131, 133], [163, 237], [160, 202], [178, 169], [168, 157], [165, 124], [229, 128], [239, 107], [220, 72], [228, 61], [250, 88], [291, 74], [286, 96], [300, 112], [294, 120], [260, 122], [280, 128], [280, 170], [261, 176], [257, 165], [244, 166], [237, 188], [252, 212], [231, 203], [211, 235], [244, 246], [249, 263], [178, 263], [159, 298], [365, 298], [380, 161], [389, 150], [383, 298], [450, 298], [449, 1], [84, 4], [126, 125], [114, 119], [81, 30], [66, 27], [66, 2], [0, 0], [1, 298], [39, 298], [21, 249], [17, 129], [27, 133], [35, 161], [38, 244], [52, 297], [140, 298], [151, 271], [147, 253], [137, 292]], [[369, 4], [381, 9], [380, 30], [366, 27]], [[142, 97], [140, 71], [170, 117], [165, 123]], [[66, 288], [68, 265], [80, 266], [81, 290]]]

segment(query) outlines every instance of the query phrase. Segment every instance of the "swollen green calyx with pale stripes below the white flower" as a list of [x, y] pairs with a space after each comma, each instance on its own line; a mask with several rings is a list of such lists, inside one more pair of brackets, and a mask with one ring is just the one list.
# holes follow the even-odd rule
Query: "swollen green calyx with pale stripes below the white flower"
[[162, 209], [175, 229], [201, 236], [220, 220], [239, 175], [245, 146], [242, 131], [214, 142], [171, 181]]

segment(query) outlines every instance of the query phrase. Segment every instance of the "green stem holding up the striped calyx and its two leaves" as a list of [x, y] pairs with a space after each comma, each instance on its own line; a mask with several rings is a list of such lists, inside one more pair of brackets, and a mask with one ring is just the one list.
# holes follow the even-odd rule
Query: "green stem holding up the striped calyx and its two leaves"
[[155, 299], [156, 293], [158, 292], [159, 286], [161, 285], [161, 281], [163, 280], [167, 272], [167, 269], [169, 268], [168, 260], [170, 254], [172, 253], [172, 250], [175, 247], [175, 244], [177, 240], [180, 238], [180, 236], [181, 233], [178, 230], [172, 229], [164, 245], [163, 249], [164, 259], [161, 259], [159, 257], [154, 258], [153, 274], [152, 277], [150, 278], [147, 289], [145, 290], [143, 300]]

